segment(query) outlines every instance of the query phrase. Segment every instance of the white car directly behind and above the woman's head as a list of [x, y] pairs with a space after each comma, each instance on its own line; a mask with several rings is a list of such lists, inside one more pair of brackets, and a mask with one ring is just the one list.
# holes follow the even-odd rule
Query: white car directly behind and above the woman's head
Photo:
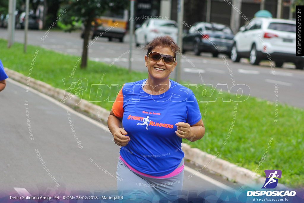
[[169, 35], [177, 42], [177, 23], [174, 20], [147, 19], [135, 30], [135, 44], [149, 44], [154, 37]]

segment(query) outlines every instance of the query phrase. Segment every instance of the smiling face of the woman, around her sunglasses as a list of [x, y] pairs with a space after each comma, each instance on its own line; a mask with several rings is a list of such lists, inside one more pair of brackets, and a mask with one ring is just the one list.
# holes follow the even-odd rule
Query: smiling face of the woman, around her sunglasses
[[[169, 47], [156, 47], [154, 50], [160, 54], [168, 54], [174, 56], [174, 53]], [[148, 67], [149, 78], [157, 80], [169, 80], [169, 75], [173, 72], [177, 62], [174, 61], [172, 65], [164, 63], [164, 60], [161, 58], [157, 62], [151, 61], [147, 56], [145, 56], [146, 66]]]

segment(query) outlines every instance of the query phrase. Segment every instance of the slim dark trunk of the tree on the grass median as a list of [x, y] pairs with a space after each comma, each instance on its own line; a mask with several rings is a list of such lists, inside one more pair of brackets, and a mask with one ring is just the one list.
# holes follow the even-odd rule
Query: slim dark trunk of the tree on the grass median
[[92, 27], [92, 21], [94, 20], [94, 11], [92, 11], [89, 16], [87, 21], [85, 22], [85, 32], [83, 35], [83, 46], [82, 46], [82, 58], [81, 58], [81, 65], [80, 68], [84, 69], [87, 67], [87, 61], [88, 61], [88, 41], [89, 41], [89, 37], [90, 37], [90, 31], [91, 31], [91, 27]]

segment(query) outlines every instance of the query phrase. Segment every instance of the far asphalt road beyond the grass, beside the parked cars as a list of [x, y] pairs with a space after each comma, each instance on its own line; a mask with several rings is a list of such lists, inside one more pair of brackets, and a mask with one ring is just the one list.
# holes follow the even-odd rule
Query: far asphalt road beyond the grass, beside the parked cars
[[[29, 30], [28, 44], [41, 46], [43, 48], [59, 51], [62, 53], [81, 56], [82, 42], [79, 32], [62, 33], [51, 30], [44, 41], [41, 40], [45, 31]], [[7, 38], [7, 30], [0, 29], [0, 37]], [[16, 30], [15, 40], [24, 42], [24, 31]], [[128, 67], [129, 36], [126, 35], [123, 43], [118, 41], [109, 42], [107, 38], [99, 38], [89, 47], [89, 58], [94, 61], [102, 61], [108, 64], [114, 63], [122, 67]], [[145, 52], [143, 47], [132, 46], [132, 69], [146, 72], [144, 66]], [[250, 92], [245, 94], [256, 96], [265, 100], [275, 101], [275, 85], [278, 85], [279, 98], [281, 103], [287, 103], [295, 107], [304, 107], [304, 71], [296, 70], [292, 64], [284, 64], [283, 68], [275, 68], [275, 75], [271, 71], [269, 63], [253, 66], [246, 63], [233, 63], [231, 60], [224, 62], [223, 55], [219, 58], [212, 58], [211, 54], [195, 56], [187, 52], [181, 58], [181, 79], [190, 81], [193, 84], [211, 84], [216, 86], [219, 83], [227, 83], [228, 89], [233, 86], [231, 71], [235, 84], [249, 86]], [[229, 66], [231, 71], [229, 73]], [[174, 73], [171, 75], [174, 78]]]

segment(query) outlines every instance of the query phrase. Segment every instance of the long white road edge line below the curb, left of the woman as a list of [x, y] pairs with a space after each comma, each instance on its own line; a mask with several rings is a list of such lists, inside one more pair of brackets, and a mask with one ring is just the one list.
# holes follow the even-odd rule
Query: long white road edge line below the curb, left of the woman
[[[27, 89], [27, 88], [26, 88], [27, 86], [25, 86], [25, 85], [23, 85], [23, 84], [21, 84], [21, 83], [19, 83], [19, 82], [16, 82], [16, 81], [14, 81], [14, 80], [12, 80], [12, 79], [10, 79], [10, 78], [8, 78], [7, 80], [9, 80], [9, 82], [12, 82], [13, 84], [15, 84], [15, 85], [17, 85], [17, 86], [19, 86], [19, 87], [22, 87], [23, 89]], [[53, 102], [54, 104], [58, 105], [58, 101], [55, 100], [54, 98], [52, 98], [52, 97], [50, 97], [50, 96], [47, 96], [47, 95], [45, 95], [45, 94], [43, 94], [43, 93], [41, 93], [41, 92], [38, 92], [37, 90], [35, 90], [35, 89], [31, 88], [31, 87], [29, 87], [29, 89], [30, 89], [33, 93], [35, 93], [35, 94], [37, 94], [37, 95], [43, 97], [44, 99], [49, 100], [50, 102]], [[101, 123], [99, 123], [98, 121], [93, 120], [92, 118], [89, 118], [89, 117], [87, 117], [87, 116], [85, 116], [85, 115], [83, 115], [83, 114], [81, 114], [81, 113], [78, 113], [77, 111], [75, 111], [74, 109], [68, 107], [67, 105], [58, 105], [58, 106], [61, 107], [61, 108], [63, 108], [63, 109], [65, 109], [65, 110], [70, 111], [71, 113], [74, 113], [75, 115], [77, 115], [77, 116], [83, 118], [84, 120], [86, 120], [86, 121], [88, 121], [88, 122], [90, 122], [90, 123], [92, 123], [92, 124], [94, 124], [94, 125], [96, 125], [96, 126], [102, 128], [103, 130], [105, 130], [105, 131], [107, 131], [107, 132], [110, 133], [109, 128], [108, 128], [107, 126], [105, 126], [104, 124], [101, 124]]]

